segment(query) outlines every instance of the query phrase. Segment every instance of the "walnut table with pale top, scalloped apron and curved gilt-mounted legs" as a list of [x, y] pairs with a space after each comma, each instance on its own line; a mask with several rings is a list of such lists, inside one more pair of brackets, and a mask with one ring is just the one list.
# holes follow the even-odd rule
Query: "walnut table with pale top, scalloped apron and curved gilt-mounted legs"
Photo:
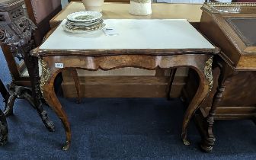
[[61, 24], [32, 52], [40, 58], [43, 67], [40, 82], [43, 98], [53, 107], [66, 130], [63, 149], [69, 149], [71, 130], [54, 92], [56, 75], [67, 69], [97, 71], [124, 67], [153, 70], [186, 66], [197, 72], [200, 86], [187, 107], [182, 126], [182, 139], [188, 145], [187, 124], [212, 88], [212, 60], [219, 50], [187, 20], [109, 19], [104, 23], [117, 34], [110, 36], [102, 30], [95, 34], [71, 34], [64, 31]]

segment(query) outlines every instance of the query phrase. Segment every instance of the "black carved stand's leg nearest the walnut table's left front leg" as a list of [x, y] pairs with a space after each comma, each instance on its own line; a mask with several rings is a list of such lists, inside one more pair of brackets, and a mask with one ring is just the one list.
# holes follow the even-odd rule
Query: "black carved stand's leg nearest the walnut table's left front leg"
[[53, 132], [54, 124], [49, 119], [46, 110], [43, 110], [43, 105], [41, 101], [41, 92], [40, 92], [40, 83], [39, 83], [39, 68], [38, 68], [38, 58], [34, 56], [28, 56], [24, 54], [24, 62], [27, 66], [27, 71], [30, 75], [30, 82], [32, 88], [32, 97], [34, 98], [34, 104], [37, 110], [37, 113], [40, 115], [41, 120], [43, 121], [46, 128]]

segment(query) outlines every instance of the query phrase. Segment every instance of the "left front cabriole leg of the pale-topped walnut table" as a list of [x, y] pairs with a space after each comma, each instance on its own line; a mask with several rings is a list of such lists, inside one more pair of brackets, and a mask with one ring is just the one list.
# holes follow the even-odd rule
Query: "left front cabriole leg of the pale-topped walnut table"
[[62, 121], [64, 129], [66, 131], [66, 143], [62, 147], [62, 150], [68, 150], [71, 142], [71, 130], [69, 125], [68, 117], [66, 116], [65, 111], [62, 109], [62, 105], [60, 104], [55, 91], [54, 91], [54, 79], [56, 75], [59, 73], [58, 71], [50, 72], [50, 69], [47, 68], [47, 64], [41, 60], [43, 74], [40, 80], [40, 88], [43, 93], [43, 98], [46, 100], [46, 103], [53, 108], [59, 119]]

